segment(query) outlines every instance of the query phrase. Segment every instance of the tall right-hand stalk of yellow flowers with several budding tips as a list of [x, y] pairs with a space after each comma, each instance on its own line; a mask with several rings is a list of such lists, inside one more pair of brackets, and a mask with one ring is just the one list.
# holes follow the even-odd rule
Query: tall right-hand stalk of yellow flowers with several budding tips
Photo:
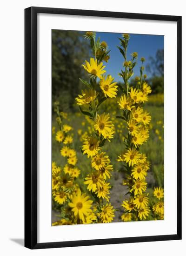
[[[146, 155], [140, 153], [140, 146], [147, 141], [149, 137], [149, 123], [151, 121], [150, 114], [142, 108], [144, 102], [148, 101], [148, 94], [152, 92], [150, 86], [143, 80], [144, 67], [140, 67], [140, 77], [136, 78], [135, 87], [130, 87], [129, 78], [133, 74], [133, 67], [136, 65], [138, 54], [132, 55], [132, 60], [126, 60], [126, 48], [129, 36], [123, 36], [121, 41], [120, 52], [123, 53], [125, 62], [125, 71], [120, 76], [124, 80], [125, 88], [121, 88], [122, 95], [118, 101], [120, 109], [123, 110], [123, 116], [118, 118], [126, 122], [128, 134], [125, 136], [124, 153], [119, 155], [118, 161], [123, 162], [126, 169], [126, 180], [123, 185], [127, 185], [130, 196], [123, 201], [122, 207], [124, 214], [121, 216], [123, 221], [145, 220], [150, 213], [149, 198], [146, 182], [146, 175], [150, 163], [147, 161]], [[145, 58], [141, 58], [141, 62]]]

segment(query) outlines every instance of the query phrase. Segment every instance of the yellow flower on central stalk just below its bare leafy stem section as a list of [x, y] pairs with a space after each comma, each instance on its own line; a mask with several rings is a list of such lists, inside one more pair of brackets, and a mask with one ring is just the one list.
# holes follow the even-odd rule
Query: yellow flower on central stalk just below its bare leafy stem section
[[109, 120], [109, 114], [97, 115], [94, 128], [98, 131], [99, 135], [102, 135], [105, 139], [107, 135], [113, 134], [113, 123]]

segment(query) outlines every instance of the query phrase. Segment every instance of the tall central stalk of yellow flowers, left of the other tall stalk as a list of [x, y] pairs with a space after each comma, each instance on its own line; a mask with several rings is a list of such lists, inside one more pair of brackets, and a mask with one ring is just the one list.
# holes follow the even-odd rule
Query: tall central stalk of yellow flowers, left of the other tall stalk
[[[95, 33], [91, 36], [86, 34], [86, 38], [92, 39]], [[107, 179], [111, 177], [113, 165], [110, 162], [109, 156], [102, 151], [106, 141], [110, 141], [114, 136], [114, 125], [110, 120], [110, 115], [103, 113], [98, 114], [100, 104], [107, 98], [115, 98], [117, 94], [117, 84], [113, 82], [114, 78], [111, 75], [103, 75], [106, 73], [102, 60], [107, 62], [109, 57], [106, 53], [107, 44], [105, 41], [95, 43], [93, 40], [93, 55], [95, 58], [90, 58], [90, 62], [85, 61], [82, 65], [86, 72], [90, 74], [89, 81], [81, 80], [89, 89], [82, 90], [82, 94], [76, 98], [77, 105], [84, 105], [86, 110], [80, 108], [82, 114], [86, 116], [86, 120], [92, 128], [81, 135], [83, 138], [82, 153], [91, 158], [91, 173], [85, 177], [84, 184], [87, 185], [87, 190], [90, 191], [95, 198], [94, 213], [97, 220], [95, 222], [112, 222], [114, 217], [113, 206], [109, 203], [110, 183]], [[107, 56], [107, 58], [106, 58]], [[97, 82], [97, 78], [100, 79]], [[88, 107], [88, 109], [87, 109]]]

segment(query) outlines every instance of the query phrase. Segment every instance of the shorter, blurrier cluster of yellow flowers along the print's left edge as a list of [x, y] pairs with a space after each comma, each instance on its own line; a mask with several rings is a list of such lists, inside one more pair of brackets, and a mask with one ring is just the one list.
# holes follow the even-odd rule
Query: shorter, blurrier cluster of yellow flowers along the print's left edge
[[62, 125], [63, 119], [66, 119], [67, 115], [59, 111], [58, 104], [55, 104], [55, 112], [58, 115], [56, 121], [60, 127], [55, 139], [63, 144], [60, 155], [67, 158], [67, 163], [63, 168], [58, 167], [55, 162], [52, 163], [53, 200], [57, 204], [63, 205], [61, 208], [62, 218], [60, 221], [53, 222], [53, 226], [92, 223], [97, 219], [92, 208], [93, 201], [86, 193], [81, 193], [79, 185], [75, 182], [80, 175], [80, 169], [75, 166], [78, 162], [76, 151], [69, 146], [73, 142], [73, 135], [68, 135], [68, 133], [73, 128], [67, 124]]

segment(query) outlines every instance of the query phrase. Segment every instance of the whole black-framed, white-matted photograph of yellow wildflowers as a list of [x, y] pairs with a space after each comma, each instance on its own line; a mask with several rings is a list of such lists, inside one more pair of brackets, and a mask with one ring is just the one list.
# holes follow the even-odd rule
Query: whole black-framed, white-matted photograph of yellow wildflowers
[[25, 9], [25, 247], [181, 239], [181, 17]]

